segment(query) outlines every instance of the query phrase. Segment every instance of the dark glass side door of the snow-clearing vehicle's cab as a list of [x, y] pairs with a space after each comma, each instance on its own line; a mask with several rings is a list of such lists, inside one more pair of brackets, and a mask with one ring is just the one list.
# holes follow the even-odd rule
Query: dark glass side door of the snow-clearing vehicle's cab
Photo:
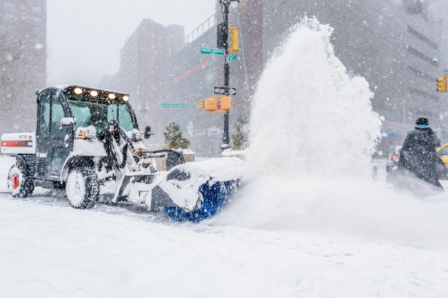
[[60, 96], [61, 92], [55, 90], [39, 94], [36, 178], [60, 180], [63, 163], [72, 150], [73, 129], [60, 125], [61, 118], [71, 116], [70, 109], [68, 104], [64, 109]]

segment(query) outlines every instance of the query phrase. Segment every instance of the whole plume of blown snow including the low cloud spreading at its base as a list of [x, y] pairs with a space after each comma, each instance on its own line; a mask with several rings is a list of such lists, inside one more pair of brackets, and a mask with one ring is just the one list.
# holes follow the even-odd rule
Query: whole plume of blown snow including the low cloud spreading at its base
[[254, 96], [250, 177], [212, 222], [448, 247], [447, 193], [422, 200], [371, 179], [380, 119], [331, 34], [305, 18], [267, 64]]

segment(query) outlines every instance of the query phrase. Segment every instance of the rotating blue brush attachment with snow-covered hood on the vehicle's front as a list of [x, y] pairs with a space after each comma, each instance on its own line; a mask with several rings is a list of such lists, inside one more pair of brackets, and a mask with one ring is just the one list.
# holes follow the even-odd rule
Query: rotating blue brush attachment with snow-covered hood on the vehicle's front
[[180, 164], [147, 195], [149, 209], [163, 208], [176, 222], [201, 222], [213, 217], [238, 190], [243, 160], [215, 158]]

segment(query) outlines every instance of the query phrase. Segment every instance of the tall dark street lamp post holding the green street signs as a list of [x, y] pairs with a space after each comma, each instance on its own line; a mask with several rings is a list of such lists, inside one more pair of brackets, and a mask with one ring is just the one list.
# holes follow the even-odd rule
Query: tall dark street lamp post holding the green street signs
[[[221, 10], [223, 10], [223, 30], [225, 33], [223, 34], [225, 43], [224, 43], [224, 87], [229, 87], [229, 61], [227, 61], [227, 55], [229, 54], [229, 42], [228, 42], [228, 32], [229, 32], [229, 6], [232, 8], [237, 8], [240, 0], [219, 0], [221, 4]], [[228, 89], [228, 88], [227, 88]], [[229, 94], [225, 94], [229, 96]], [[224, 134], [223, 134], [223, 145], [221, 145], [221, 149], [224, 151], [225, 149], [230, 148], [229, 145], [230, 137], [229, 137], [229, 110], [227, 109], [224, 114]]]

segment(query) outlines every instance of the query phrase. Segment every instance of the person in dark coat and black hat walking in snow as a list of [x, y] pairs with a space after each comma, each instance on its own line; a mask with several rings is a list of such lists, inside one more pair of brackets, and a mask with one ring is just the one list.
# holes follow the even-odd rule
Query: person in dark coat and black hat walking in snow
[[407, 133], [398, 161], [398, 175], [402, 176], [399, 181], [400, 184], [405, 182], [405, 187], [418, 190], [422, 186], [416, 183], [415, 178], [418, 178], [443, 191], [437, 173], [436, 148], [440, 147], [440, 139], [428, 125], [428, 119], [420, 117], [415, 129]]

